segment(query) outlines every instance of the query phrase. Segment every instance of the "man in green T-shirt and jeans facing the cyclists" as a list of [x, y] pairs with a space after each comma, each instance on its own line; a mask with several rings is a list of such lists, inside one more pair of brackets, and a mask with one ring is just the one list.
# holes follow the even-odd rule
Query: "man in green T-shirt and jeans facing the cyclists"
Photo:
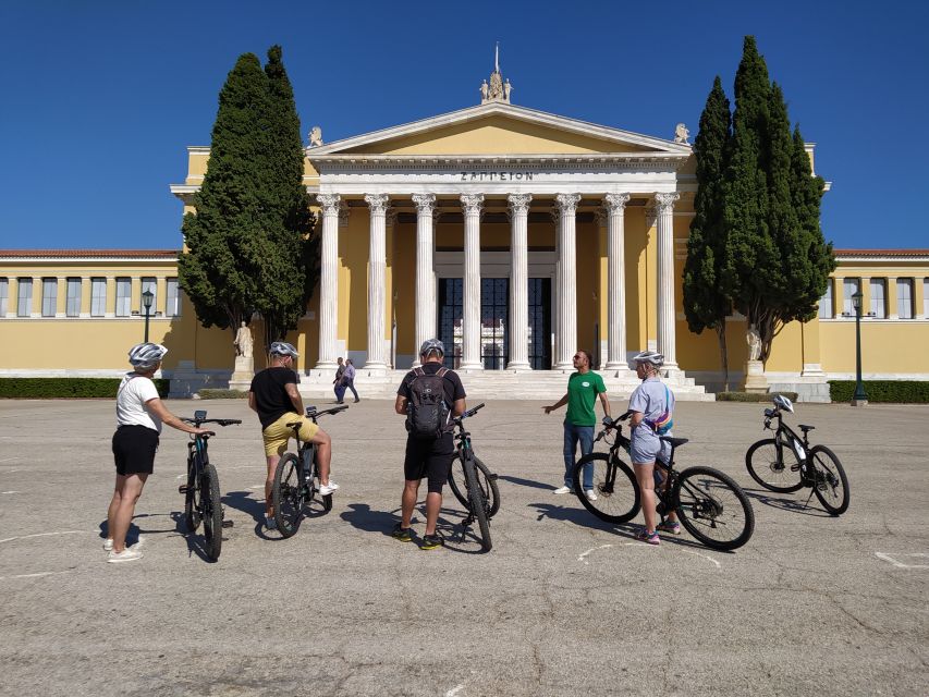
[[[584, 456], [594, 451], [594, 427], [597, 425], [597, 415], [594, 405], [597, 395], [603, 405], [603, 414], [610, 417], [610, 402], [607, 399], [607, 386], [603, 378], [590, 370], [594, 357], [586, 351], [578, 350], [574, 354], [574, 369], [567, 379], [567, 392], [557, 403], [543, 406], [546, 414], [567, 404], [567, 414], [564, 415], [564, 486], [555, 489], [553, 493], [571, 493], [573, 491], [574, 455], [577, 452], [577, 442], [580, 442], [580, 455]], [[584, 468], [584, 491], [591, 501], [597, 500], [594, 491], [594, 468]]]

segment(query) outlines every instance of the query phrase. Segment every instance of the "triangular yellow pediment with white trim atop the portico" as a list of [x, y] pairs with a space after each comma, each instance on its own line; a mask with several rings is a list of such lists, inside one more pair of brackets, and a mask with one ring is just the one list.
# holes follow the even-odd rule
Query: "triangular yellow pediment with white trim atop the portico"
[[330, 155], [676, 155], [690, 146], [509, 103], [487, 103], [307, 148]]

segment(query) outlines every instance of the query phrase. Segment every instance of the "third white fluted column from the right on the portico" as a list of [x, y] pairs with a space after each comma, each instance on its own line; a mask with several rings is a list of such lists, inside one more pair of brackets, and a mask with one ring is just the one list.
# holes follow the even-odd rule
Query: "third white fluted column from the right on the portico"
[[554, 367], [557, 370], [569, 370], [574, 367], [572, 357], [577, 350], [577, 244], [576, 220], [577, 204], [580, 194], [559, 194], [555, 198], [558, 208], [558, 316], [555, 344], [558, 355]]

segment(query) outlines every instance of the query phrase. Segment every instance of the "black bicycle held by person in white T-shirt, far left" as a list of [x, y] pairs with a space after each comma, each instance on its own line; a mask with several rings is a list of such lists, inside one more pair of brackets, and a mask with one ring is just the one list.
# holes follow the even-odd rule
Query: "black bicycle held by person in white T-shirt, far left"
[[[204, 424], [232, 426], [242, 423], [237, 418], [207, 418], [204, 409], [194, 412], [194, 418], [181, 420], [193, 424], [197, 428]], [[207, 452], [211, 436], [216, 433], [209, 431], [201, 436], [191, 436], [191, 441], [187, 443], [187, 484], [178, 487], [178, 491], [184, 494], [184, 521], [187, 524], [187, 531], [196, 533], [203, 522], [206, 553], [216, 561], [222, 551], [222, 528], [231, 527], [232, 521], [223, 522], [222, 519], [219, 475], [216, 466], [210, 463]]]

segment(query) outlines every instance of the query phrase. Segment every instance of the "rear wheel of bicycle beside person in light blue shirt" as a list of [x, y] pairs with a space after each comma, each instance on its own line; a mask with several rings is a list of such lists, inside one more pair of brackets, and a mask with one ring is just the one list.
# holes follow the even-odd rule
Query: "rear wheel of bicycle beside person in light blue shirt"
[[717, 469], [685, 469], [677, 478], [673, 497], [681, 524], [707, 547], [736, 549], [755, 530], [755, 512], [748, 497], [732, 477]]

